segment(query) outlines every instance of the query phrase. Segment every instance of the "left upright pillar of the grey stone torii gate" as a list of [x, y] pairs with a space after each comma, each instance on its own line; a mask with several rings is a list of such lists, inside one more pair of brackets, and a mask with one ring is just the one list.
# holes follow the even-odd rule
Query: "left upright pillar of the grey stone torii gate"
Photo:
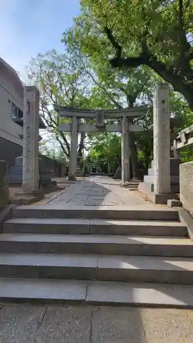
[[69, 159], [69, 180], [76, 180], [78, 145], [78, 118], [71, 117], [71, 150]]

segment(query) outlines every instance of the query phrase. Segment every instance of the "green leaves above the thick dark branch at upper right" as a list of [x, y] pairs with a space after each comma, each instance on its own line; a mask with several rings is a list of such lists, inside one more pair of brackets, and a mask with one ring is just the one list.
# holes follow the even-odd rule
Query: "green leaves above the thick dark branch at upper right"
[[[93, 60], [100, 55], [111, 57], [114, 52], [104, 28], [112, 29], [124, 56], [141, 53], [141, 39], [152, 54], [174, 62], [180, 52], [181, 27], [179, 0], [82, 0], [82, 11], [76, 18], [74, 34], [81, 42], [83, 53]], [[186, 34], [193, 33], [193, 3], [183, 1], [183, 25]], [[106, 60], [108, 62], [108, 60]]]

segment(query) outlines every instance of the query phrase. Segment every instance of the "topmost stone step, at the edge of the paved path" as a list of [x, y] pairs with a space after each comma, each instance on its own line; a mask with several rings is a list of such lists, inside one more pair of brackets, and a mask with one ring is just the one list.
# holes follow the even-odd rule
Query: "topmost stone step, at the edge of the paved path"
[[159, 206], [76, 206], [23, 205], [14, 207], [13, 217], [84, 218], [117, 220], [179, 220], [174, 209]]

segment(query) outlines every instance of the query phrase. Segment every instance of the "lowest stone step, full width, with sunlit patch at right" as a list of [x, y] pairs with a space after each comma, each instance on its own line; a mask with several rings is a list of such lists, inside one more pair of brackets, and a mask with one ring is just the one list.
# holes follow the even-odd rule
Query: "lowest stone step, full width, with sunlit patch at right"
[[193, 309], [192, 285], [0, 278], [0, 301]]

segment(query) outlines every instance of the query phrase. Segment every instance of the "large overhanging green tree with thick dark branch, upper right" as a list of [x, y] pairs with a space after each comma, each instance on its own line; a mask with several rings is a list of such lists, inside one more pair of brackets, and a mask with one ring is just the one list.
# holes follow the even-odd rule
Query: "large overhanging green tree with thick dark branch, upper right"
[[192, 0], [82, 0], [73, 34], [94, 64], [150, 67], [193, 110]]

